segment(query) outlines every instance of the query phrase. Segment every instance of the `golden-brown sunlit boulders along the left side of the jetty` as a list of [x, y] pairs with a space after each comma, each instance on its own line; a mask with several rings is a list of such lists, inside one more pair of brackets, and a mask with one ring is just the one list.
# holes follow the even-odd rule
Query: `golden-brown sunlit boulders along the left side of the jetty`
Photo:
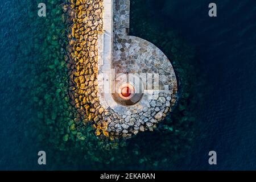
[[103, 10], [102, 0], [71, 0], [70, 5], [64, 7], [72, 20], [67, 67], [69, 96], [78, 113], [75, 122], [94, 122], [96, 135], [109, 137], [108, 123], [102, 122], [104, 109], [97, 98], [97, 38], [102, 34]]

